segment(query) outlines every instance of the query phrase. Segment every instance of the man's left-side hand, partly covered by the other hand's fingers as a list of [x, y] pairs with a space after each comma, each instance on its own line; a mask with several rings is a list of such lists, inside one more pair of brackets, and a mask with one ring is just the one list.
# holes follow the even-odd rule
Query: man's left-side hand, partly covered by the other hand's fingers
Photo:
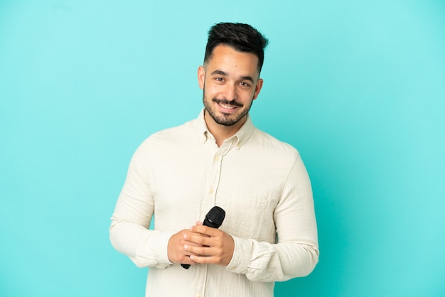
[[[193, 234], [194, 236], [200, 236], [200, 234]], [[190, 229], [183, 229], [176, 234], [173, 234], [170, 239], [168, 239], [167, 255], [168, 259], [172, 263], [176, 264], [196, 264], [191, 260], [191, 255], [193, 254], [187, 247], [202, 247], [199, 244], [188, 241], [186, 238], [191, 237], [192, 232]]]

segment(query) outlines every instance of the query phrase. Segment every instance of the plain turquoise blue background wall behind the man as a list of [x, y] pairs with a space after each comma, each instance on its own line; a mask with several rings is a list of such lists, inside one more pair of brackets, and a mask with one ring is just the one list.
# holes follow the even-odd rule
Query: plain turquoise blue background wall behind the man
[[144, 296], [109, 217], [220, 21], [270, 39], [252, 119], [313, 183], [320, 261], [276, 296], [445, 296], [440, 0], [0, 1], [0, 295]]

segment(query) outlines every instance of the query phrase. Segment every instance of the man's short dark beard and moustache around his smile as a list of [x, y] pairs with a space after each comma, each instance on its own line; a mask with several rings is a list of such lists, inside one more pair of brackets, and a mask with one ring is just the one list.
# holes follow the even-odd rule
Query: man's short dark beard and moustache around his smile
[[[241, 108], [240, 114], [222, 113], [221, 115], [218, 115], [212, 106], [212, 102], [215, 102], [217, 104], [225, 104], [225, 105], [229, 105], [229, 106], [233, 106], [233, 107], [240, 107]], [[250, 101], [249, 106], [245, 107], [244, 104], [237, 102], [236, 99], [229, 101], [227, 99], [218, 99], [215, 97], [210, 100], [207, 98], [207, 96], [205, 96], [205, 88], [203, 90], [203, 103], [204, 103], [204, 107], [205, 107], [205, 112], [208, 112], [210, 117], [212, 117], [212, 119], [215, 122], [217, 122], [218, 124], [223, 125], [223, 126], [232, 126], [232, 125], [236, 124], [238, 121], [240, 121], [241, 119], [243, 119], [249, 113], [250, 108], [252, 107], [252, 102], [253, 102], [253, 97], [252, 97], [252, 100]], [[242, 109], [243, 107], [245, 107], [245, 109]]]

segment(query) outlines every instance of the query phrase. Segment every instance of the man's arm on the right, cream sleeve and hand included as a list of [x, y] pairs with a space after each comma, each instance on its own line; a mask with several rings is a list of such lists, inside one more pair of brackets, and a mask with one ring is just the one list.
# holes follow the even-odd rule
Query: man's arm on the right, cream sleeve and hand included
[[284, 183], [282, 197], [274, 210], [277, 242], [242, 239], [219, 229], [194, 226], [189, 240], [205, 247], [188, 247], [203, 257], [196, 263], [219, 264], [245, 274], [251, 281], [285, 281], [306, 276], [318, 262], [318, 239], [311, 184], [299, 156]]

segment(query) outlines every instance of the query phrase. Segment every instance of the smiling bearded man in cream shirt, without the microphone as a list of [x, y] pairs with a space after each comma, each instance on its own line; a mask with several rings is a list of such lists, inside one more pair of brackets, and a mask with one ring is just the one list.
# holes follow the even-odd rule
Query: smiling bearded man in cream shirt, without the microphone
[[[134, 153], [110, 238], [137, 266], [150, 267], [146, 296], [273, 296], [274, 281], [306, 276], [318, 262], [299, 153], [249, 116], [266, 45], [249, 25], [213, 26], [198, 68], [205, 108]], [[200, 222], [215, 205], [226, 212], [220, 229]]]

